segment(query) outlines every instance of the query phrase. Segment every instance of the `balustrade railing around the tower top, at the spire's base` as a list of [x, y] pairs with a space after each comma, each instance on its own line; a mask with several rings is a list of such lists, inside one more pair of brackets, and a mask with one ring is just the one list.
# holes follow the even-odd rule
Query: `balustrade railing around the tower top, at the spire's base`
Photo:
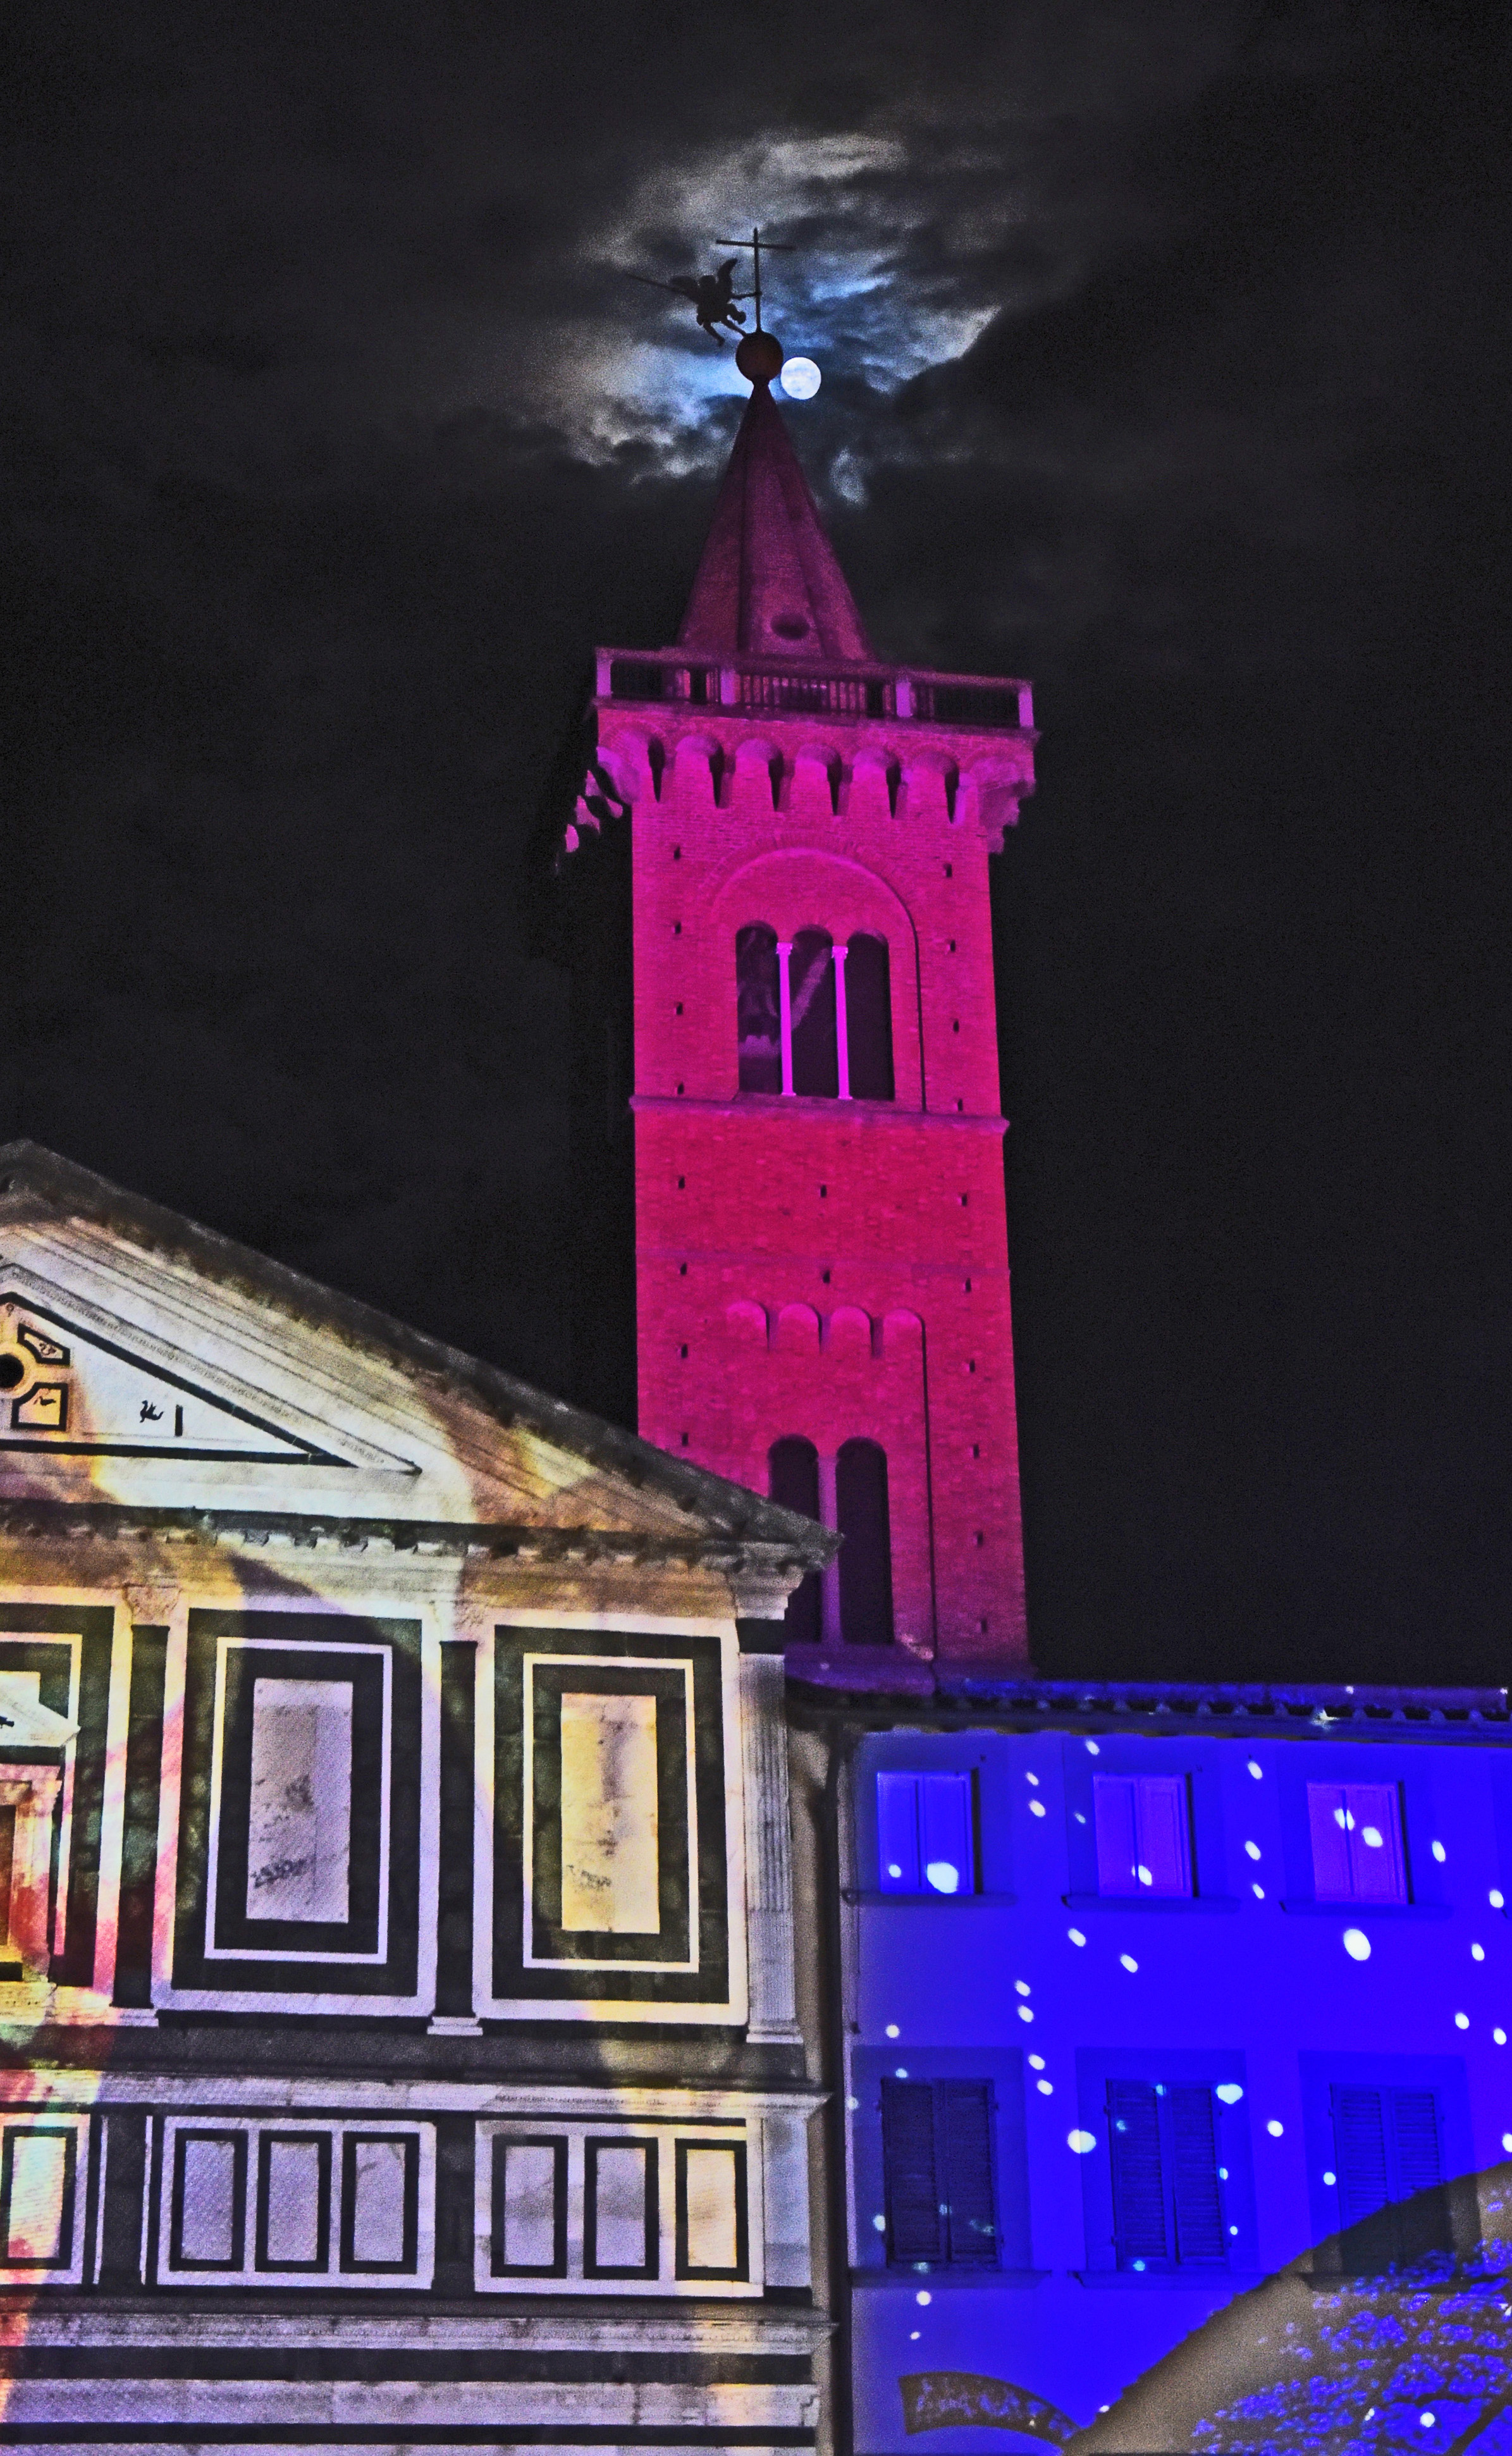
[[1028, 683], [989, 673], [925, 673], [918, 666], [805, 666], [768, 656], [734, 661], [687, 648], [599, 648], [601, 700], [665, 700], [785, 717], [898, 717], [972, 732], [1033, 732]]

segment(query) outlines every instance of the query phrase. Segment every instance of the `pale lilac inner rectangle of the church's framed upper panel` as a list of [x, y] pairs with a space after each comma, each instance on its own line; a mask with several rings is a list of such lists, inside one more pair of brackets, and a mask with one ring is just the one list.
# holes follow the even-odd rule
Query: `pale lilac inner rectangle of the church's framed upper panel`
[[351, 1680], [255, 1680], [248, 1918], [351, 1918]]

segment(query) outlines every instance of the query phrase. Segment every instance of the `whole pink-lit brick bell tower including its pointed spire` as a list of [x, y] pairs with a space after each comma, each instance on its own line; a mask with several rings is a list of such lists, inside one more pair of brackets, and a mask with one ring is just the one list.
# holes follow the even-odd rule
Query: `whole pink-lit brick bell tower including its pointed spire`
[[793, 1643], [1004, 1668], [987, 860], [1033, 791], [1028, 688], [876, 661], [771, 398], [781, 349], [751, 334], [739, 366], [677, 646], [596, 673], [599, 781], [631, 810], [641, 1434], [839, 1525]]

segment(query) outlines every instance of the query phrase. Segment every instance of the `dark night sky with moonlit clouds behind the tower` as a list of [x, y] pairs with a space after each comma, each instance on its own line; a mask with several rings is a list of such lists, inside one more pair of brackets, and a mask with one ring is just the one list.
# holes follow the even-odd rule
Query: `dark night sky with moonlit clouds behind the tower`
[[2, 39], [0, 1127], [569, 1383], [533, 845], [734, 418], [619, 268], [781, 223], [879, 646], [1036, 683], [1038, 1665], [1505, 1680], [1505, 12], [22, 0]]

